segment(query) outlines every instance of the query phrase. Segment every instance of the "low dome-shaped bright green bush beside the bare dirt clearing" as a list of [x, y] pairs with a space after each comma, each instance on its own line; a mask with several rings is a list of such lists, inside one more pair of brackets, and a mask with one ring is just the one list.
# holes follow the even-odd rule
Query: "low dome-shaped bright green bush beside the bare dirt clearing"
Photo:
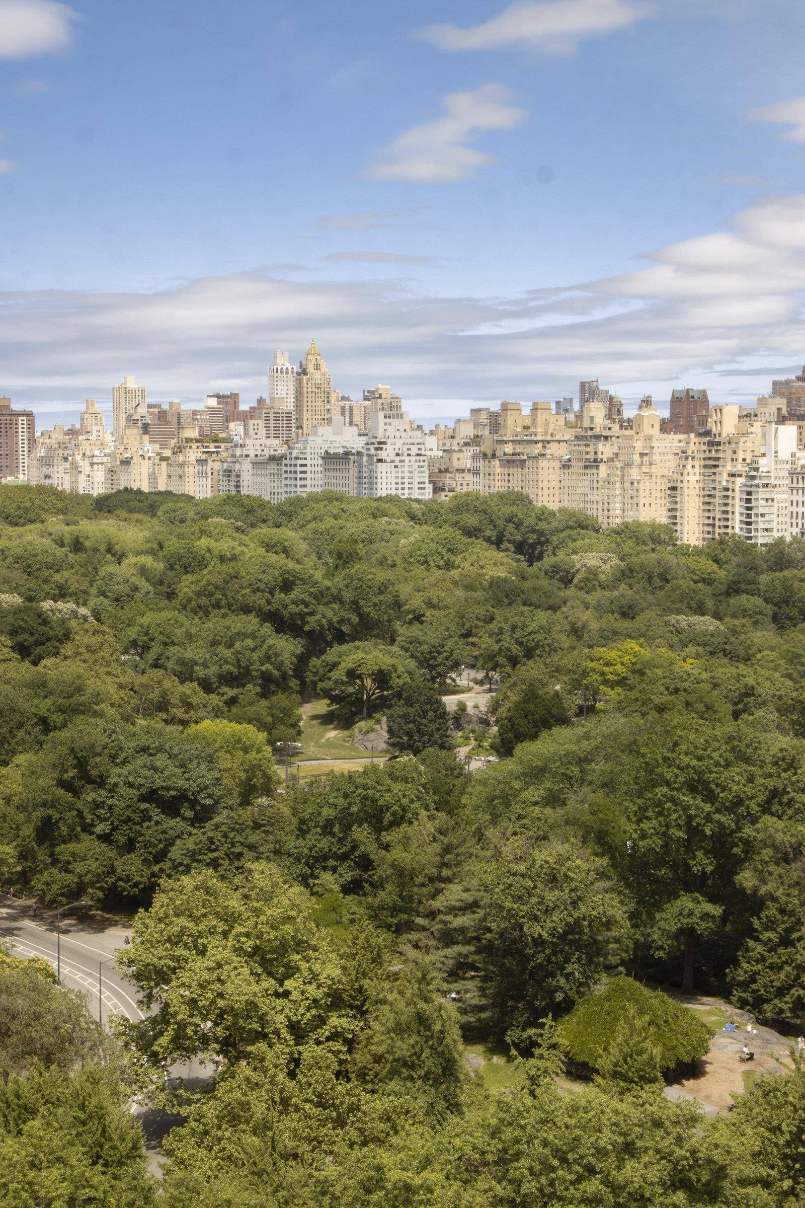
[[572, 1059], [599, 1070], [630, 1011], [648, 1023], [664, 1073], [698, 1061], [710, 1049], [706, 1026], [687, 1006], [631, 977], [613, 977], [605, 991], [582, 999], [562, 1022], [562, 1040]]

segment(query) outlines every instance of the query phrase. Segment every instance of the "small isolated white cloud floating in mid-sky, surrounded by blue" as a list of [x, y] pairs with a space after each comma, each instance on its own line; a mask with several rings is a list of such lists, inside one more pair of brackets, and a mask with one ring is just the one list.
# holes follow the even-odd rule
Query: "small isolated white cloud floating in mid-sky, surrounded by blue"
[[526, 116], [509, 104], [502, 85], [488, 83], [474, 92], [453, 92], [444, 97], [444, 116], [413, 129], [391, 143], [385, 162], [367, 168], [374, 180], [413, 180], [442, 184], [467, 180], [477, 168], [495, 163], [495, 156], [469, 146], [484, 130], [506, 130]]

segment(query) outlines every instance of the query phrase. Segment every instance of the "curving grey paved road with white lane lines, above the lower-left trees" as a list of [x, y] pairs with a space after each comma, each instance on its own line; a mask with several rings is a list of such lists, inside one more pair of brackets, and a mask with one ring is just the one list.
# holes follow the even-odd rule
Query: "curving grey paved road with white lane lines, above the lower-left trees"
[[[49, 919], [40, 925], [19, 917], [18, 907], [0, 908], [0, 941], [11, 942], [23, 957], [43, 957], [56, 969], [57, 936]], [[110, 1015], [122, 1015], [128, 1020], [144, 1018], [138, 1006], [136, 988], [117, 972], [109, 959], [115, 952], [113, 936], [109, 934], [93, 935], [82, 930], [80, 939], [75, 930], [62, 925], [62, 981], [70, 989], [83, 991], [89, 995], [89, 1010], [98, 1017], [98, 962], [106, 960], [100, 969], [103, 1020]]]

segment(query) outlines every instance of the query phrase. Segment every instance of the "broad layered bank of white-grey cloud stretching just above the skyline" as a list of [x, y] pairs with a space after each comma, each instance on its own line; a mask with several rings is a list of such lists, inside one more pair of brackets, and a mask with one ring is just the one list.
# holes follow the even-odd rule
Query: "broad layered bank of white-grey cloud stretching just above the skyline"
[[[2, 393], [36, 407], [109, 400], [134, 372], [153, 399], [264, 393], [267, 356], [311, 336], [339, 389], [371, 382], [447, 416], [506, 397], [560, 397], [597, 376], [660, 401], [687, 379], [747, 400], [805, 356], [805, 198], [765, 198], [728, 230], [644, 257], [646, 267], [517, 297], [434, 296], [401, 280], [208, 278], [158, 294], [0, 294]], [[323, 274], [322, 274], [323, 278]], [[731, 376], [734, 374], [734, 376]], [[634, 387], [630, 388], [630, 383]], [[663, 389], [660, 390], [660, 385]]]

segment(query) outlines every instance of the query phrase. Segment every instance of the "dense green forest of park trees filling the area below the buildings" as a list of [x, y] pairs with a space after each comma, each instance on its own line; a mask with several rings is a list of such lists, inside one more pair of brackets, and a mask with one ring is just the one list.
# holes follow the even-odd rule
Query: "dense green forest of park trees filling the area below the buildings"
[[[0, 662], [0, 884], [138, 911], [150, 1009], [101, 1041], [2, 958], [1, 1208], [805, 1202], [798, 1058], [716, 1120], [660, 1093], [679, 992], [805, 1020], [805, 541], [2, 487]], [[286, 783], [313, 695], [392, 756]], [[181, 1114], [159, 1184], [135, 1094]]]

